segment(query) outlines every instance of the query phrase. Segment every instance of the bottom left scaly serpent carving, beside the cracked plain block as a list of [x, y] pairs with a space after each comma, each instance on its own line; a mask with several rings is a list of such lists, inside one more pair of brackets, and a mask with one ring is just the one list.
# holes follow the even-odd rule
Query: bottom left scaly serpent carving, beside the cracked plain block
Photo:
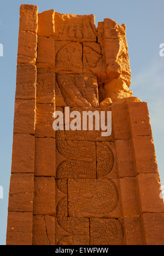
[[55, 239], [56, 245], [89, 245], [89, 219], [57, 218]]

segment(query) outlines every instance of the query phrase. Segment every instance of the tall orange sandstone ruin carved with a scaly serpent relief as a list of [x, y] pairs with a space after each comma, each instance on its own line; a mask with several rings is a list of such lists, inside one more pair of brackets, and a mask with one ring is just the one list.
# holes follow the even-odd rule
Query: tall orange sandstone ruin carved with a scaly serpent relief
[[[7, 245], [164, 245], [148, 106], [130, 85], [124, 24], [21, 5]], [[112, 111], [112, 134], [55, 132], [65, 107]]]

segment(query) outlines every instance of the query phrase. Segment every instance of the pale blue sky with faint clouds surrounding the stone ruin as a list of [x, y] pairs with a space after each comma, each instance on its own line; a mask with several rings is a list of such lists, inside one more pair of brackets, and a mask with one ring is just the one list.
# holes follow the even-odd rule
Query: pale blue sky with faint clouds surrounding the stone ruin
[[161, 184], [164, 185], [164, 57], [159, 55], [159, 46], [164, 43], [164, 0], [1, 0], [0, 43], [4, 56], [0, 57], [0, 185], [4, 189], [4, 199], [0, 199], [0, 245], [5, 245], [7, 226], [19, 8], [23, 3], [38, 5], [39, 13], [50, 9], [68, 14], [93, 13], [96, 26], [104, 18], [126, 24], [132, 70], [130, 89], [134, 96], [148, 102]]

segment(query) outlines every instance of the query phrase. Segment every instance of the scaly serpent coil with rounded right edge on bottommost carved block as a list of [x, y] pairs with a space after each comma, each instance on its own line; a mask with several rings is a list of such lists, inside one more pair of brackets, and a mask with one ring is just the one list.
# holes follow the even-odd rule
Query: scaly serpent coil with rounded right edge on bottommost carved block
[[118, 219], [91, 218], [91, 245], [122, 245], [124, 231]]

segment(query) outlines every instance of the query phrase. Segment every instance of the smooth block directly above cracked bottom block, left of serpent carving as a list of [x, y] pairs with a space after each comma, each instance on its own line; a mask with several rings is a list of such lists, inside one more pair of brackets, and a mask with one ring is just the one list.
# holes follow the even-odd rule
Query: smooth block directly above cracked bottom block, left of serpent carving
[[34, 177], [34, 215], [55, 216], [55, 178]]

